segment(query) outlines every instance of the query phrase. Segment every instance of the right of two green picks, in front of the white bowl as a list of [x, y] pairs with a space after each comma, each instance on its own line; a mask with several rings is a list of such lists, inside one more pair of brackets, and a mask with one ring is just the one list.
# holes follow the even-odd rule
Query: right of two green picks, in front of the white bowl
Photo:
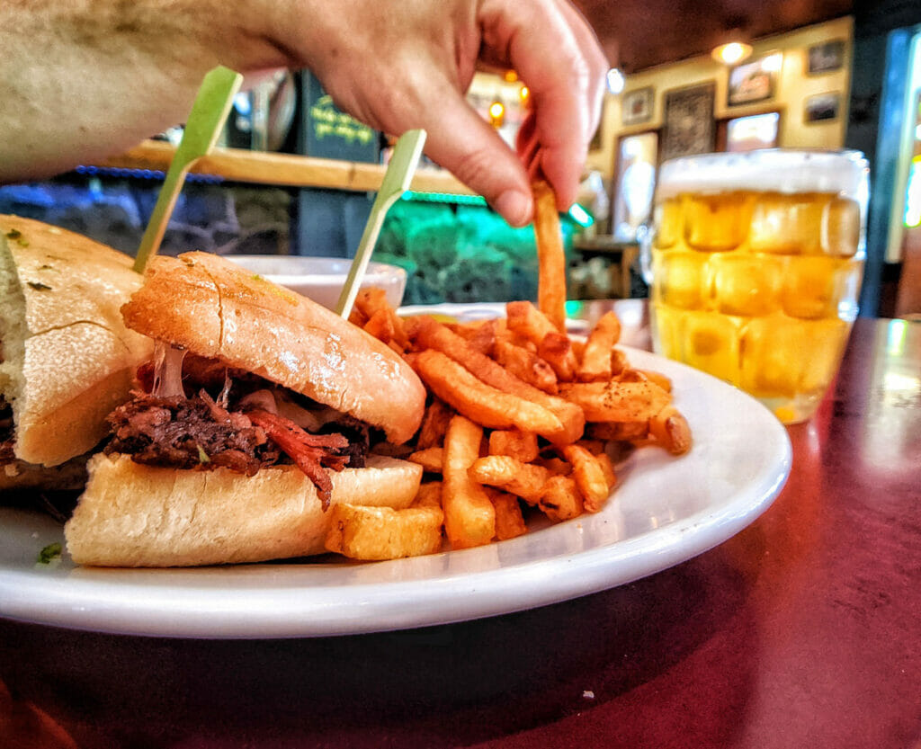
[[345, 279], [345, 286], [336, 303], [336, 312], [342, 317], [347, 318], [352, 312], [352, 305], [355, 304], [355, 298], [358, 296], [358, 287], [367, 270], [371, 253], [374, 252], [374, 245], [378, 241], [380, 228], [384, 225], [384, 218], [387, 217], [391, 205], [396, 203], [402, 193], [409, 189], [416, 164], [419, 163], [419, 155], [425, 145], [425, 130], [408, 130], [400, 136], [396, 146], [393, 146], [391, 163], [384, 172], [378, 196], [374, 199], [374, 205], [371, 206], [371, 215], [367, 217], [365, 231], [358, 242], [355, 259], [352, 261], [352, 267]]

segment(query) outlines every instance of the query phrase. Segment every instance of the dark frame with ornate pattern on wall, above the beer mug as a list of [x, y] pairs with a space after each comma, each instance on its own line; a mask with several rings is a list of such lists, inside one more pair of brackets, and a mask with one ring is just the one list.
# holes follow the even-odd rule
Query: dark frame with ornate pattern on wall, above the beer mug
[[665, 92], [659, 152], [661, 161], [713, 150], [716, 139], [716, 121], [713, 118], [716, 91], [716, 83], [708, 81]]

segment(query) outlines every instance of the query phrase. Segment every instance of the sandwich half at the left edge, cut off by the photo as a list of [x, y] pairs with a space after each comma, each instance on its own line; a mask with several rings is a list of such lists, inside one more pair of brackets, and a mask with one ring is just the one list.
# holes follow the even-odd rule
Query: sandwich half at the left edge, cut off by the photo
[[83, 486], [152, 350], [120, 312], [141, 281], [122, 252], [0, 216], [0, 491]]

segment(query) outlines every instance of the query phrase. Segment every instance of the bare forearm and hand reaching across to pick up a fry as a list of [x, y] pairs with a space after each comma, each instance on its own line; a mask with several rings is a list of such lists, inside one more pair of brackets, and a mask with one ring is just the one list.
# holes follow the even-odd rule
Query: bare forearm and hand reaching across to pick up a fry
[[[181, 122], [216, 64], [309, 67], [372, 127], [424, 128], [429, 157], [514, 226], [533, 211], [521, 158], [561, 210], [575, 200], [608, 67], [568, 0], [250, 0], [233, 12], [221, 0], [4, 0], [0, 47], [0, 181], [72, 169]], [[530, 88], [521, 158], [464, 98], [482, 66]]]

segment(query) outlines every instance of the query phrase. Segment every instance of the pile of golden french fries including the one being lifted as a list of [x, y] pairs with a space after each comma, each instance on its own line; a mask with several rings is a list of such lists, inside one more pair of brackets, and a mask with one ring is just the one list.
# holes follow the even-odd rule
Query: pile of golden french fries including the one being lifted
[[423, 466], [409, 509], [332, 508], [330, 551], [391, 559], [514, 538], [540, 512], [566, 521], [598, 512], [617, 485], [624, 445], [691, 447], [670, 381], [631, 367], [613, 312], [584, 340], [565, 331], [563, 257], [554, 195], [535, 186], [538, 304], [508, 302], [506, 318], [401, 318], [384, 292], [359, 293], [350, 320], [391, 346], [426, 384], [422, 426], [401, 454]]

